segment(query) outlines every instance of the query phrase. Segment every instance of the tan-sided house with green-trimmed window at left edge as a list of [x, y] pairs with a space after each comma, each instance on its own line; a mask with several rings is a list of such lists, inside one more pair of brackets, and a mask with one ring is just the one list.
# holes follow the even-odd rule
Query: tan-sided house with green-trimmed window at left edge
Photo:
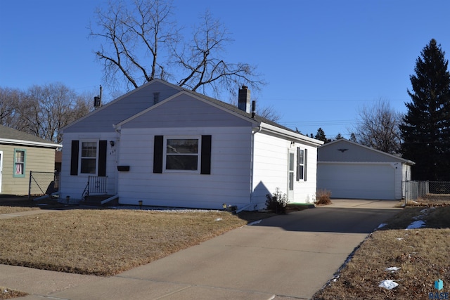
[[53, 173], [55, 151], [60, 147], [62, 145], [0, 125], [0, 193], [28, 195], [30, 171]]

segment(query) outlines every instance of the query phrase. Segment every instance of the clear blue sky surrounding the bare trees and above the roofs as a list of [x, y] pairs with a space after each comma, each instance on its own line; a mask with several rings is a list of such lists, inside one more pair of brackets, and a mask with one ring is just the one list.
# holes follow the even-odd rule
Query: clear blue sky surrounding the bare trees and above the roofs
[[[62, 82], [97, 91], [102, 67], [88, 39], [103, 0], [1, 0], [0, 86], [27, 89]], [[179, 25], [209, 9], [233, 44], [227, 60], [256, 65], [267, 81], [252, 93], [273, 105], [279, 123], [302, 133], [321, 127], [349, 137], [364, 105], [387, 100], [406, 112], [409, 76], [434, 38], [450, 57], [450, 1], [432, 0], [191, 0], [174, 1]], [[108, 91], [105, 91], [108, 93]], [[229, 100], [228, 96], [221, 100]]]

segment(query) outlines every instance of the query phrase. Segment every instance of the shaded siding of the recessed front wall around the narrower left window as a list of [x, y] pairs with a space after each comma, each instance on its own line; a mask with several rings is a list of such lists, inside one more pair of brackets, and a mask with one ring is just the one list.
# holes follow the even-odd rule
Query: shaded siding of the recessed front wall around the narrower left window
[[[116, 155], [119, 149], [120, 141], [117, 141], [117, 133], [64, 133], [63, 139], [63, 160], [61, 162], [61, 179], [60, 179], [60, 197], [70, 196], [71, 199], [81, 199], [84, 188], [88, 181], [88, 175], [78, 174], [76, 176], [70, 175], [70, 155], [72, 148], [72, 141], [82, 140], [106, 140], [106, 176], [107, 189], [109, 195], [115, 195], [117, 184], [117, 167], [116, 167]], [[110, 141], [115, 142], [115, 146], [111, 147]]]

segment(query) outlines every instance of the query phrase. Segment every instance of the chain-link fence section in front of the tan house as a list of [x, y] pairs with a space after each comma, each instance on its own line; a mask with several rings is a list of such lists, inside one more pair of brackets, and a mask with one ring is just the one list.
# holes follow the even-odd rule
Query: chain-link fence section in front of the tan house
[[34, 196], [51, 195], [58, 192], [59, 172], [30, 171], [30, 185], [28, 185], [28, 198]]

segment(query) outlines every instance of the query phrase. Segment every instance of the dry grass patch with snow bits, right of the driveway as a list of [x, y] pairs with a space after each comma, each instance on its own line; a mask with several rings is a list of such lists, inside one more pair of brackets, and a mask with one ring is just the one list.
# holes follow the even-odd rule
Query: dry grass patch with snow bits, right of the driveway
[[[405, 230], [420, 220], [426, 228]], [[386, 270], [390, 267], [399, 270]], [[450, 292], [450, 207], [406, 207], [369, 235], [314, 299], [428, 299], [428, 293], [437, 292], [439, 278], [444, 281], [440, 292]], [[399, 285], [384, 289], [382, 280]]]

